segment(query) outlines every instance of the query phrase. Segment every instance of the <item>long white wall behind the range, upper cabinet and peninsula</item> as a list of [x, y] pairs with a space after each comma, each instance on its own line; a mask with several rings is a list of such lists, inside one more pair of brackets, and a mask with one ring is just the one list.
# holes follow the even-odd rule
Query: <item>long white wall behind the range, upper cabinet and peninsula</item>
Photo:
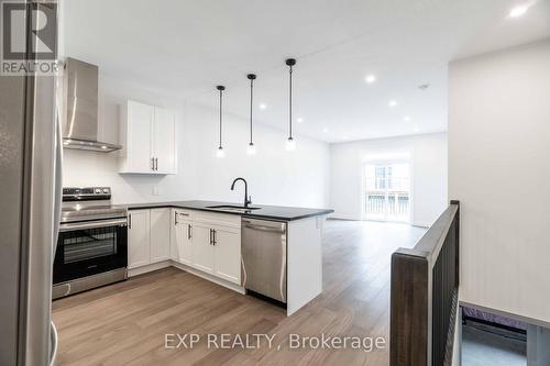
[[[254, 203], [314, 207], [328, 204], [329, 145], [297, 137], [295, 152], [285, 151], [285, 132], [256, 124], [257, 154], [249, 156], [246, 121], [226, 117], [227, 156], [215, 156], [218, 146], [218, 111], [206, 109], [138, 85], [100, 77], [99, 138], [118, 142], [119, 104], [124, 98], [176, 111], [178, 126], [178, 174], [156, 177], [119, 175], [117, 153], [65, 149], [64, 186], [111, 186], [117, 203], [208, 199], [240, 202], [243, 187], [230, 190], [242, 176], [250, 185]], [[216, 90], [212, 92], [216, 97]], [[158, 196], [153, 196], [153, 187]]]

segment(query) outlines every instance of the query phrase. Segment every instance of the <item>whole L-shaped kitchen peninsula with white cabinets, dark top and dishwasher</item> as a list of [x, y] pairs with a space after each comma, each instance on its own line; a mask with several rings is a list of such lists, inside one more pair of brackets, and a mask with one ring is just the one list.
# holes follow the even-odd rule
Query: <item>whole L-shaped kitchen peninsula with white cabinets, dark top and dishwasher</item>
[[174, 266], [293, 314], [322, 291], [327, 209], [216, 201], [127, 204], [129, 276]]

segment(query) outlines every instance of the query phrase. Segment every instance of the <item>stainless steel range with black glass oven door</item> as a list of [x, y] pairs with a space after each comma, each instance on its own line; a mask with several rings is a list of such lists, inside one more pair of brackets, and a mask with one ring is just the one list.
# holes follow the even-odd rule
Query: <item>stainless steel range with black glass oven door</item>
[[64, 188], [52, 298], [127, 279], [127, 225], [109, 187]]

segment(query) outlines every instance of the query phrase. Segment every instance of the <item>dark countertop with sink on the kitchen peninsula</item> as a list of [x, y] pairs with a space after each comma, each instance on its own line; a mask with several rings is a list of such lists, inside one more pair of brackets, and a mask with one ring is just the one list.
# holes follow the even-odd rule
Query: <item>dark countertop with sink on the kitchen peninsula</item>
[[120, 206], [125, 206], [129, 210], [168, 207], [168, 208], [238, 214], [251, 219], [265, 219], [265, 220], [278, 220], [278, 221], [300, 220], [334, 212], [334, 210], [328, 210], [328, 209], [302, 209], [297, 207], [263, 206], [263, 204], [251, 204], [251, 207], [257, 207], [260, 209], [246, 211], [244, 213], [208, 208], [210, 206], [242, 206], [242, 203], [217, 202], [217, 201], [173, 201], [173, 202], [152, 202], [152, 203], [129, 203]]

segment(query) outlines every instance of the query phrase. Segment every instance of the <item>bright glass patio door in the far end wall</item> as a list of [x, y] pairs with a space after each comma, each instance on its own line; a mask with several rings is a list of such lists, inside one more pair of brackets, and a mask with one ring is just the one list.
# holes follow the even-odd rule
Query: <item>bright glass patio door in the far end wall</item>
[[363, 187], [364, 220], [410, 222], [410, 163], [367, 163]]

